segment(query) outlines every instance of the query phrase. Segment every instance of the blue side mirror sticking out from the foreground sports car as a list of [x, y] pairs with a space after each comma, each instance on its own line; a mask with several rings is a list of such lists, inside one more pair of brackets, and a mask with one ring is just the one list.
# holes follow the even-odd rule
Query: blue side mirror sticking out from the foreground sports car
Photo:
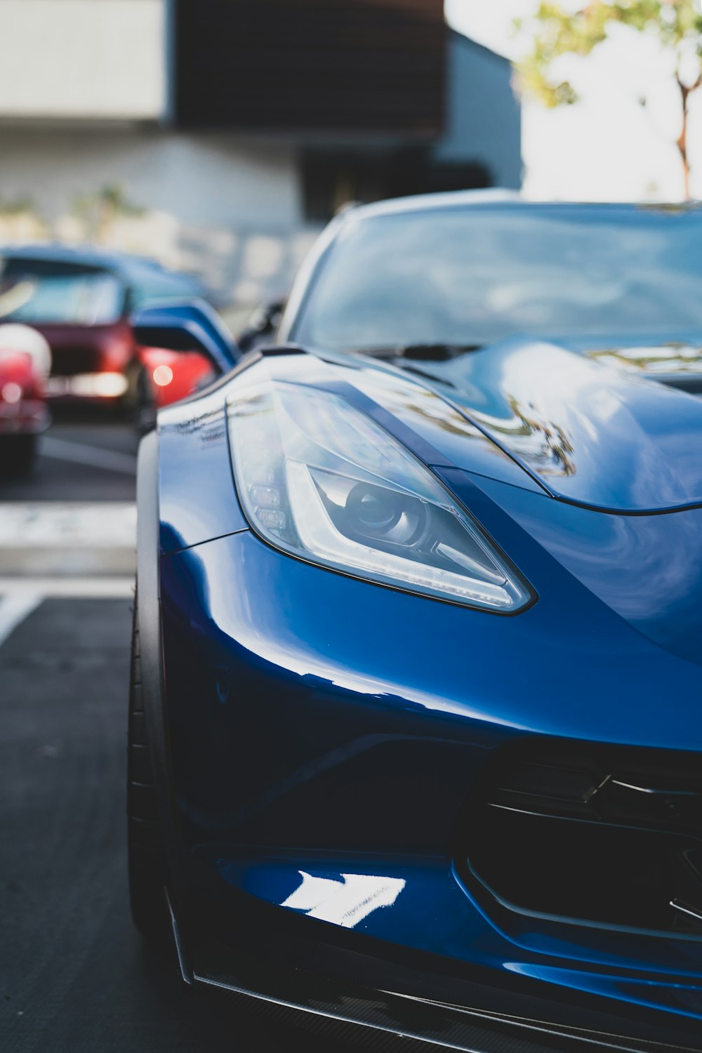
[[224, 322], [204, 300], [153, 303], [131, 318], [137, 343], [167, 351], [197, 351], [217, 374], [228, 373], [242, 353]]

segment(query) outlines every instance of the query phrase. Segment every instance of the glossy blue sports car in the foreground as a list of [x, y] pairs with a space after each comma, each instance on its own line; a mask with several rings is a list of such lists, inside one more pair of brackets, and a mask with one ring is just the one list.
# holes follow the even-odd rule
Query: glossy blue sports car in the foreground
[[356, 207], [277, 343], [134, 326], [222, 374], [139, 456], [139, 929], [383, 1048], [702, 1049], [702, 210]]

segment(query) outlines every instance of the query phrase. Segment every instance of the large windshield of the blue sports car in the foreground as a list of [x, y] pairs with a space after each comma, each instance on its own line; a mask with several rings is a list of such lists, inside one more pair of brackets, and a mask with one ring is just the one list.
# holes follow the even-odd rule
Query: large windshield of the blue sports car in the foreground
[[702, 333], [702, 213], [444, 207], [362, 216], [323, 258], [293, 331], [330, 351], [504, 337]]

